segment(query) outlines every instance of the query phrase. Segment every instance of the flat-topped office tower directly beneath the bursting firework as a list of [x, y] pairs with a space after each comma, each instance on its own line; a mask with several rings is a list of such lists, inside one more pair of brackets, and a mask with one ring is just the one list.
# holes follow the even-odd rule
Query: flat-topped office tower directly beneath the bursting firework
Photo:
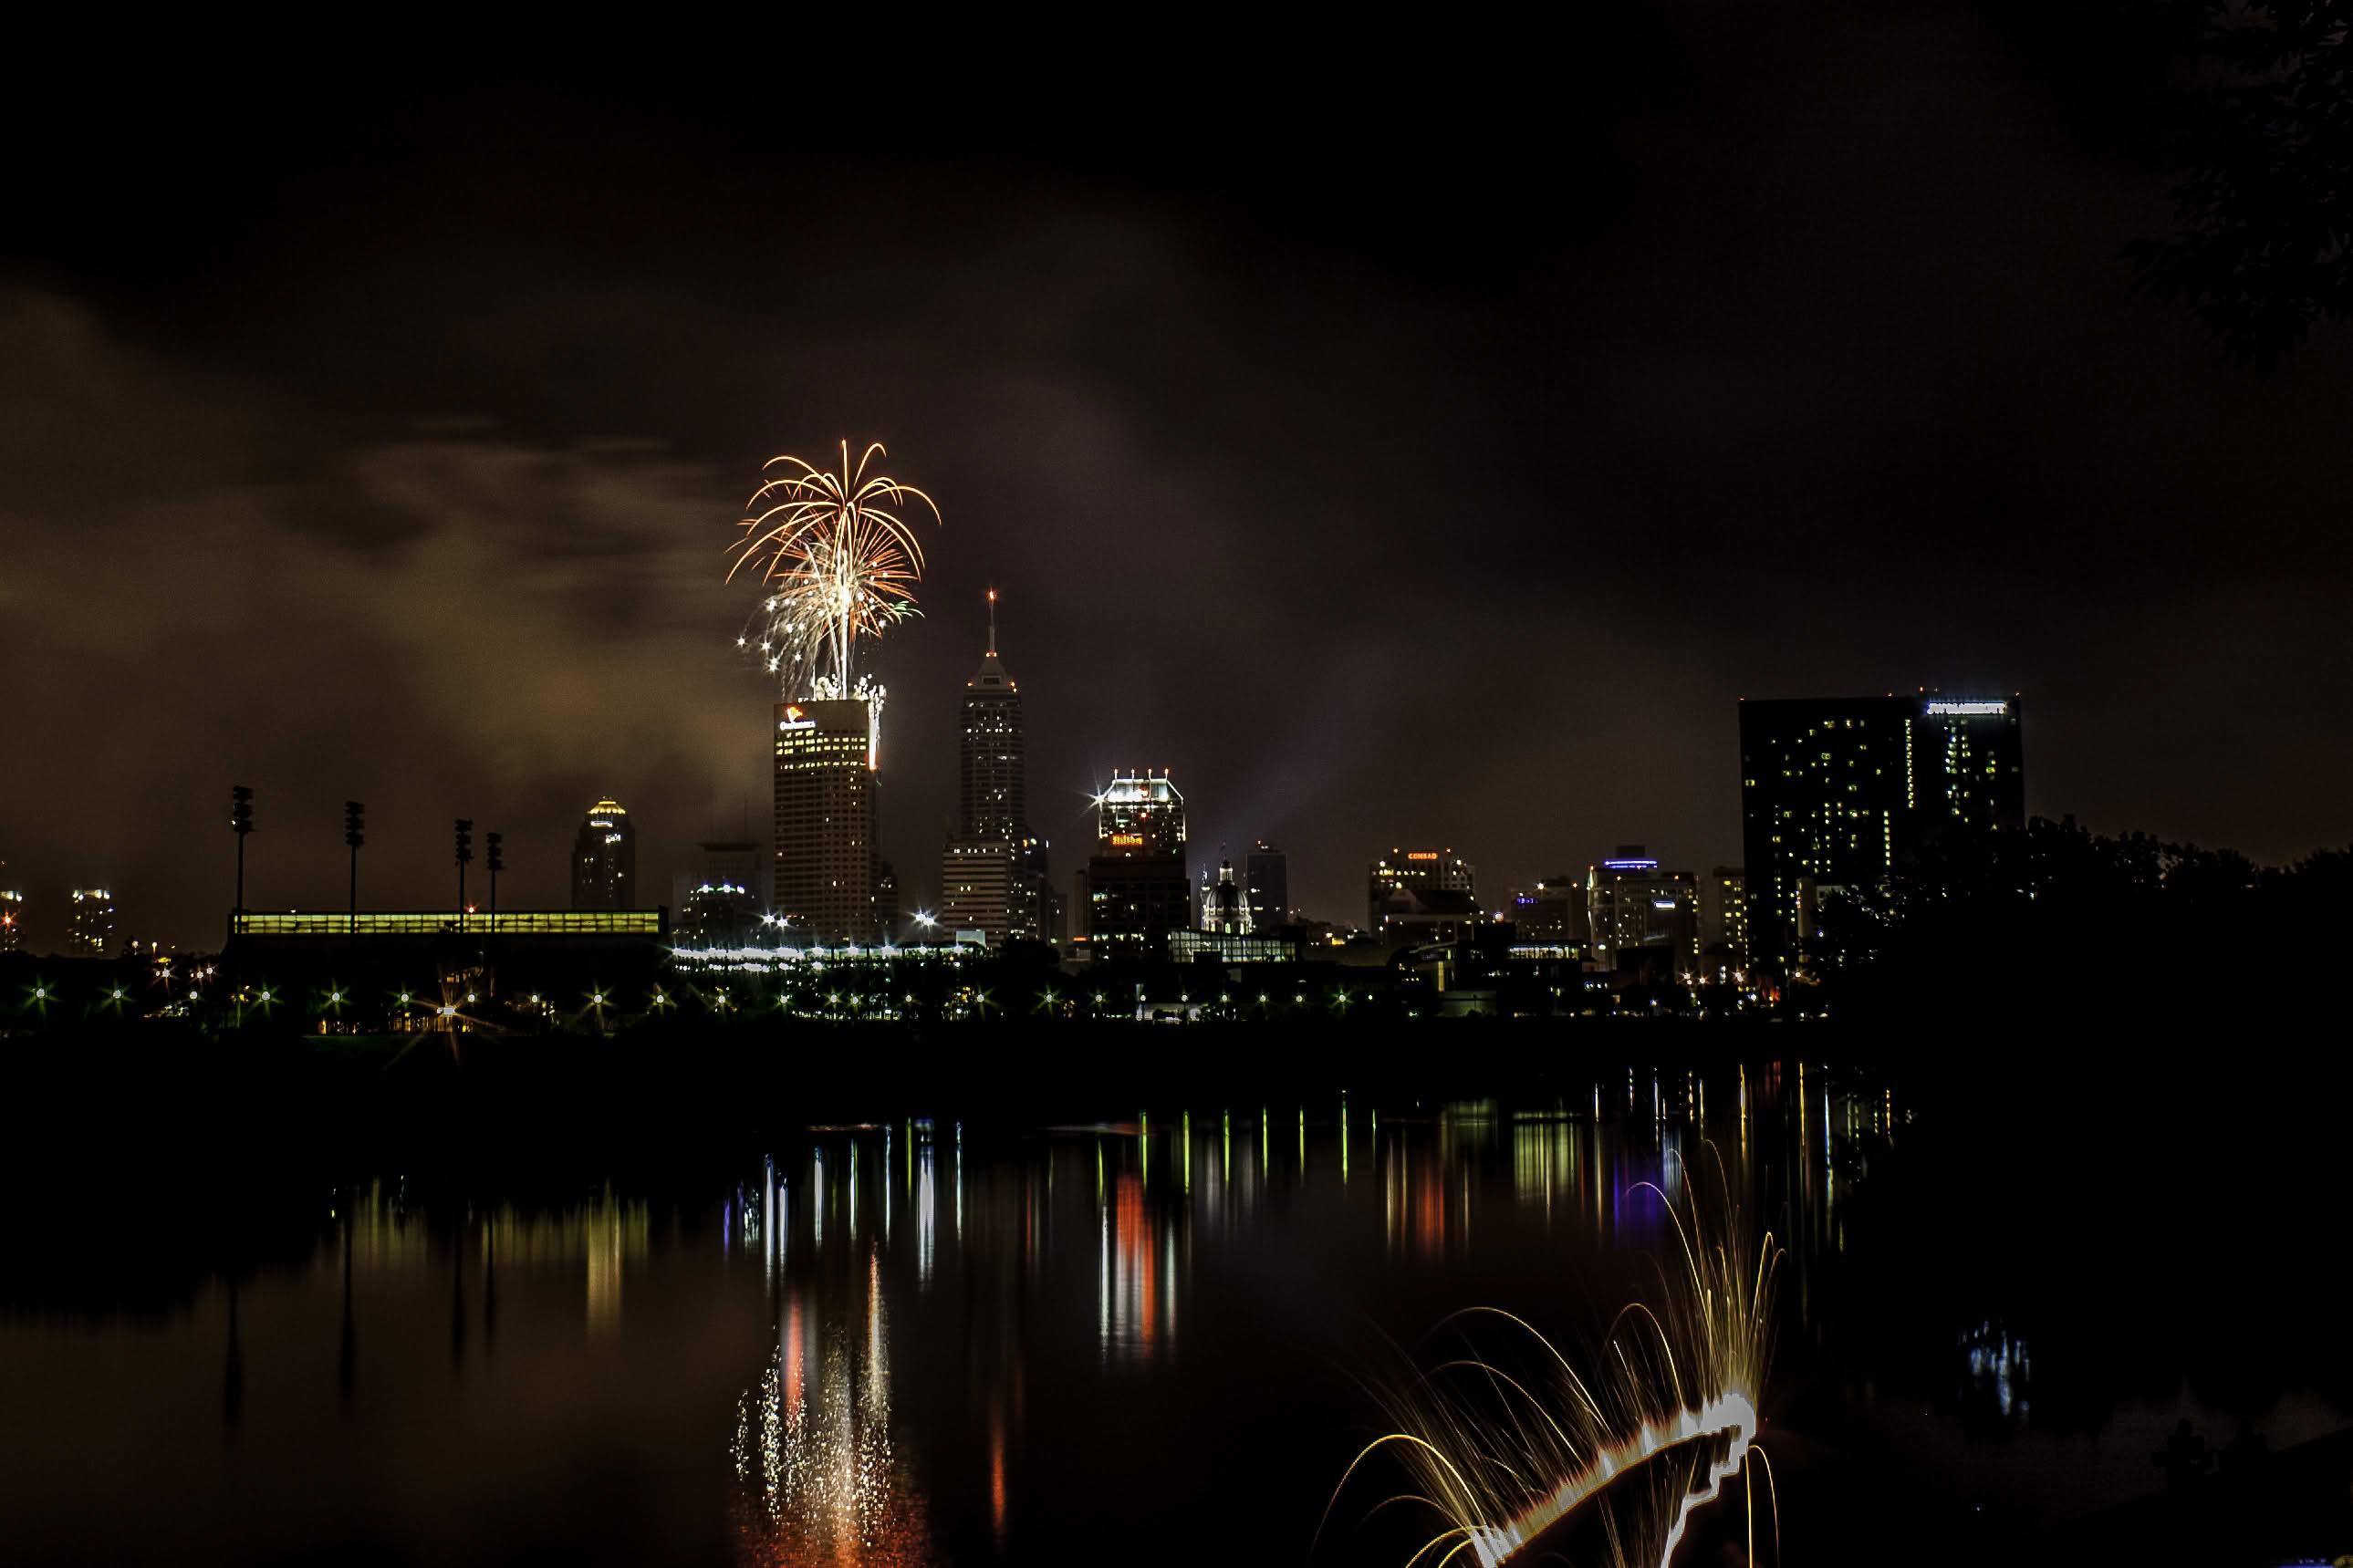
[[880, 931], [875, 719], [861, 698], [776, 703], [774, 912], [819, 943]]

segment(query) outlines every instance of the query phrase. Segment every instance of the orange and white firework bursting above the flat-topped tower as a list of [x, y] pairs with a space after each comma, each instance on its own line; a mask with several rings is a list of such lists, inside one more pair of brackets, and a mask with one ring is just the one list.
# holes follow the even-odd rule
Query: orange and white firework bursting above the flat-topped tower
[[922, 541], [908, 517], [920, 503], [939, 522], [939, 505], [871, 473], [880, 456], [882, 442], [873, 442], [852, 461], [845, 440], [840, 470], [769, 458], [744, 508], [727, 581], [758, 564], [767, 597], [736, 646], [755, 651], [786, 696], [868, 696], [854, 670], [859, 639], [920, 614]]

